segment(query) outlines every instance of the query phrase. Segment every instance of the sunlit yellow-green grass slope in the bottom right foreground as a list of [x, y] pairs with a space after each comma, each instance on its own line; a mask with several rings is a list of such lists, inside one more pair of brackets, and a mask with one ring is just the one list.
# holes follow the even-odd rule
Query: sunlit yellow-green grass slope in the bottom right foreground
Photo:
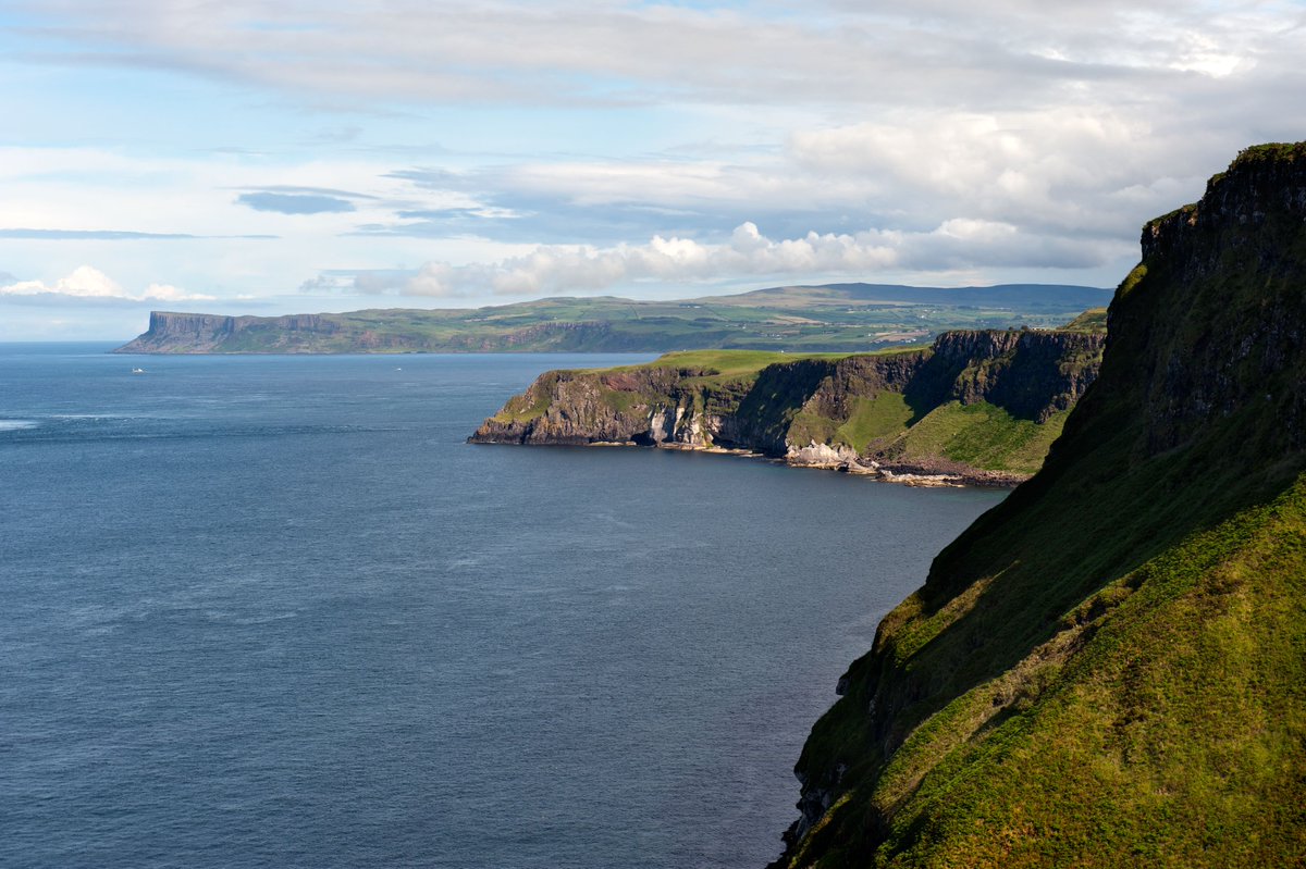
[[[1126, 575], [1096, 630], [1077, 624], [1089, 603], [1017, 678], [949, 703], [882, 776], [878, 801], [909, 791], [914, 808], [896, 814], [884, 865], [938, 864], [940, 849], [968, 866], [1085, 869], [1306, 853], [1303, 540], [1298, 481]], [[921, 763], [914, 787], [900, 778]]]

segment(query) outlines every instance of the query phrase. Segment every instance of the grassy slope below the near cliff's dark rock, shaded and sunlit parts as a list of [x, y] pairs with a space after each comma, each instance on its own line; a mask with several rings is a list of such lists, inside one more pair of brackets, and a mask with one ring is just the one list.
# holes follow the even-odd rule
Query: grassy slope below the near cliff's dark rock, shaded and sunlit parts
[[[884, 620], [804, 749], [808, 775], [852, 759], [818, 865], [1306, 856], [1306, 476], [1230, 513], [1237, 465], [1190, 451], [1128, 474], [1122, 428], [1083, 432], [1096, 457], [1017, 491]], [[900, 746], [867, 752], [884, 737], [866, 709], [904, 678], [931, 690], [895, 716]], [[870, 839], [874, 814], [889, 826]]]

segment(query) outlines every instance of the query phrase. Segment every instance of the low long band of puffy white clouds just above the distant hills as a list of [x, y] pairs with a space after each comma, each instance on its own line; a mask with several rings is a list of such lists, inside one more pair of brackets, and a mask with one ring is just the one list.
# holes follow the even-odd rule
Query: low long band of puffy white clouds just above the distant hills
[[[946, 271], [976, 262], [995, 266], [1091, 267], [1118, 253], [1109, 243], [1030, 243], [1004, 223], [952, 219], [925, 232], [866, 230], [771, 239], [750, 222], [729, 240], [701, 243], [654, 236], [646, 244], [610, 248], [542, 245], [495, 262], [427, 262], [415, 274], [366, 273], [353, 277], [360, 292], [414, 296], [471, 296], [598, 292], [639, 282], [700, 282], [737, 275], [865, 277], [887, 269]], [[304, 290], [341, 286], [332, 274]]]

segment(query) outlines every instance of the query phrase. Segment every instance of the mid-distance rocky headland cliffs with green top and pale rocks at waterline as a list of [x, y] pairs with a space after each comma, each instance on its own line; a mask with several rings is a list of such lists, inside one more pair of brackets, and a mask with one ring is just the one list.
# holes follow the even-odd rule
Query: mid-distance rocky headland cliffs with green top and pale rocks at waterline
[[1007, 467], [1003, 457], [996, 466], [949, 458], [946, 438], [922, 453], [914, 423], [981, 438], [985, 425], [1000, 425], [1029, 442], [1037, 467], [1060, 431], [1058, 414], [1092, 382], [1101, 346], [1100, 333], [966, 331], [946, 333], [927, 350], [777, 361], [737, 376], [677, 365], [675, 355], [628, 369], [547, 372], [470, 440], [741, 449], [793, 465], [906, 474], [904, 481], [1008, 484], [1028, 475], [1030, 459]]

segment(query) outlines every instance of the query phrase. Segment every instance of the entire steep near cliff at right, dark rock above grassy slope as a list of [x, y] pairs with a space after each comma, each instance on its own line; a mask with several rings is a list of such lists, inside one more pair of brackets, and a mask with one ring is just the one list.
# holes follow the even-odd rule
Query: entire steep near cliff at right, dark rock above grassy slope
[[1306, 144], [1148, 223], [1109, 324], [840, 681], [777, 865], [1306, 862]]

